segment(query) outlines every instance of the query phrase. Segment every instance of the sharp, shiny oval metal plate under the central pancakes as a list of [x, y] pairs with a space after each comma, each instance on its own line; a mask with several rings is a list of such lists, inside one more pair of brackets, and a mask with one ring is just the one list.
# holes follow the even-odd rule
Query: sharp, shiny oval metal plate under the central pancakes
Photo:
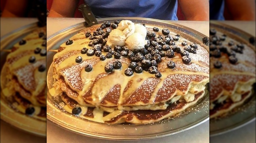
[[[180, 34], [192, 42], [201, 44], [207, 50], [208, 46], [204, 45], [202, 38], [205, 35], [190, 29], [188, 27], [161, 21], [155, 19], [146, 18], [106, 18], [99, 19], [98, 23], [103, 21], [110, 21], [114, 23], [114, 20], [131, 20], [134, 23], [146, 24], [147, 27], [163, 27], [169, 28], [171, 31]], [[53, 86], [53, 68], [51, 64], [53, 62], [54, 52], [49, 50], [58, 49], [59, 46], [66, 42], [70, 37], [84, 29], [83, 23], [72, 25], [61, 31], [56, 32], [47, 39], [47, 85], [48, 90]], [[151, 124], [139, 124], [139, 125], [127, 125], [127, 124], [105, 124], [87, 119], [78, 118], [59, 107], [55, 101], [51, 99], [49, 91], [47, 91], [47, 119], [52, 121], [54, 124], [68, 129], [72, 132], [80, 135], [86, 135], [96, 138], [105, 139], [119, 139], [119, 140], [136, 140], [136, 139], [151, 139], [158, 138], [167, 135], [174, 135], [183, 131], [189, 130], [195, 126], [202, 124], [209, 119], [209, 94], [206, 94], [203, 99], [194, 106], [191, 110], [184, 112], [179, 117], [171, 119], [165, 119], [160, 122]]]

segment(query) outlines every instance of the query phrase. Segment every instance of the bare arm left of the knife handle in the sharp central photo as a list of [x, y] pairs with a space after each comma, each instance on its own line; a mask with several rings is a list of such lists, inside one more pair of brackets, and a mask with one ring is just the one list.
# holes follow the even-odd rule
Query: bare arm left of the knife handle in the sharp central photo
[[78, 0], [53, 0], [48, 17], [74, 17]]

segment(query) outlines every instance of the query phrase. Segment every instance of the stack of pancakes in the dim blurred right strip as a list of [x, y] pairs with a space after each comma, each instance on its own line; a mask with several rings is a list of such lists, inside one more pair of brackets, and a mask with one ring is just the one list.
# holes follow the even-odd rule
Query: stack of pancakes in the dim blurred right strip
[[[255, 83], [255, 47], [234, 35], [234, 39], [231, 39], [226, 33], [211, 30], [213, 32], [210, 41], [215, 39], [217, 43], [220, 42], [213, 42], [210, 50], [212, 48], [211, 52], [215, 52], [215, 46], [215, 50], [221, 50], [219, 57], [214, 54], [210, 57], [210, 118], [217, 118], [228, 115], [233, 108], [243, 104], [250, 97], [252, 85]], [[230, 56], [236, 57], [237, 62], [231, 63]], [[222, 63], [221, 68], [214, 66], [217, 61]]]

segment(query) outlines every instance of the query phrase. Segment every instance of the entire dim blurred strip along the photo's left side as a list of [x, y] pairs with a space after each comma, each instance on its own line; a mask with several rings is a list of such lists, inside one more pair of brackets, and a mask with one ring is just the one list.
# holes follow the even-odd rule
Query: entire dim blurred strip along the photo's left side
[[46, 142], [46, 0], [1, 0], [1, 142]]

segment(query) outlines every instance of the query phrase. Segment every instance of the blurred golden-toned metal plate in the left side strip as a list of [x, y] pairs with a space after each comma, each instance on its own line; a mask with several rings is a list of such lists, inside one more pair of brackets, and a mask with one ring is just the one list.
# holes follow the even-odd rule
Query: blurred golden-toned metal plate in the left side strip
[[[32, 32], [36, 28], [37, 28], [36, 23], [29, 24], [27, 26], [16, 29], [10, 32], [9, 34], [1, 37], [1, 41], [0, 41], [1, 42], [1, 62], [0, 62], [1, 71], [6, 61], [6, 56], [9, 54], [8, 52], [5, 52], [3, 50], [11, 49], [14, 44], [19, 42], [23, 37], [28, 35], [30, 32]], [[1, 100], [0, 100], [1, 119], [20, 130], [26, 131], [33, 135], [46, 137], [46, 121], [33, 119], [28, 117], [25, 114], [16, 112], [2, 98], [3, 97], [2, 88], [5, 87], [2, 77], [4, 77], [4, 75], [2, 75], [1, 73]]]

